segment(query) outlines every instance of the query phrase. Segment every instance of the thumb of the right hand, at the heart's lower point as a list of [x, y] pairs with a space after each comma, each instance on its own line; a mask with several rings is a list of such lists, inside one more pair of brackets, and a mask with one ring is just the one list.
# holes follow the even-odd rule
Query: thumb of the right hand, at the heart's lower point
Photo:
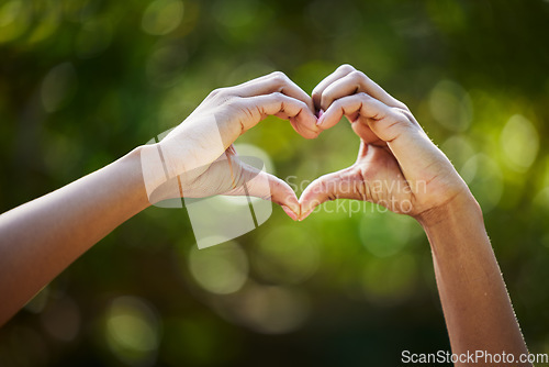
[[354, 175], [351, 167], [315, 179], [301, 194], [300, 221], [304, 220], [316, 207], [329, 200], [365, 200], [358, 190], [360, 180]]

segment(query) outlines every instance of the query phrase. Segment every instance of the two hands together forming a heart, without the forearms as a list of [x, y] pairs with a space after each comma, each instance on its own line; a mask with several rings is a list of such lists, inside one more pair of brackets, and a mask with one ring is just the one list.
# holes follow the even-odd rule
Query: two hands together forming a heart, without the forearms
[[[317, 137], [346, 116], [360, 137], [358, 158], [314, 180], [298, 200], [287, 182], [242, 162], [234, 149], [238, 136], [268, 115], [289, 120], [305, 138]], [[426, 221], [469, 192], [407, 107], [349, 65], [321, 81], [312, 97], [279, 71], [214, 90], [149, 148], [161, 152], [164, 159], [165, 179], [155, 185], [159, 192], [177, 186], [184, 197], [261, 197], [282, 205], [293, 220], [305, 219], [327, 200], [355, 199]]]

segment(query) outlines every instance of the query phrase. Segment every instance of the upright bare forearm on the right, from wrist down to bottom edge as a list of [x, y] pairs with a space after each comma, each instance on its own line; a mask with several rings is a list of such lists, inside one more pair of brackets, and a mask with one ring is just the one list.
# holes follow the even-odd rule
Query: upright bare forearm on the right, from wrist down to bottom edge
[[419, 222], [432, 246], [452, 352], [505, 352], [518, 360], [526, 344], [475, 200], [460, 198]]

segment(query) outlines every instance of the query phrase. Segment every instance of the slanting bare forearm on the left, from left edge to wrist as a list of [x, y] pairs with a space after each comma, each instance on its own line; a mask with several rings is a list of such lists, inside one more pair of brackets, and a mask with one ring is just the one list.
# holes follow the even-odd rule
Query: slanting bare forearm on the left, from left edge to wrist
[[0, 325], [82, 253], [148, 205], [139, 152], [0, 215]]

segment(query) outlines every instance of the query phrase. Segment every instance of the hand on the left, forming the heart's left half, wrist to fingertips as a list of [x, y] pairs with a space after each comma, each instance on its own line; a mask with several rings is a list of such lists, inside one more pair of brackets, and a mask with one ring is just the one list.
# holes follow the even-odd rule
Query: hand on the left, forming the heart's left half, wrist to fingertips
[[321, 132], [311, 97], [280, 71], [214, 90], [165, 138], [144, 147], [142, 157], [161, 152], [164, 164], [164, 171], [149, 175], [147, 191], [159, 199], [250, 194], [281, 204], [295, 220], [300, 205], [290, 186], [238, 159], [233, 147], [238, 136], [268, 115], [289, 120], [305, 138]]

